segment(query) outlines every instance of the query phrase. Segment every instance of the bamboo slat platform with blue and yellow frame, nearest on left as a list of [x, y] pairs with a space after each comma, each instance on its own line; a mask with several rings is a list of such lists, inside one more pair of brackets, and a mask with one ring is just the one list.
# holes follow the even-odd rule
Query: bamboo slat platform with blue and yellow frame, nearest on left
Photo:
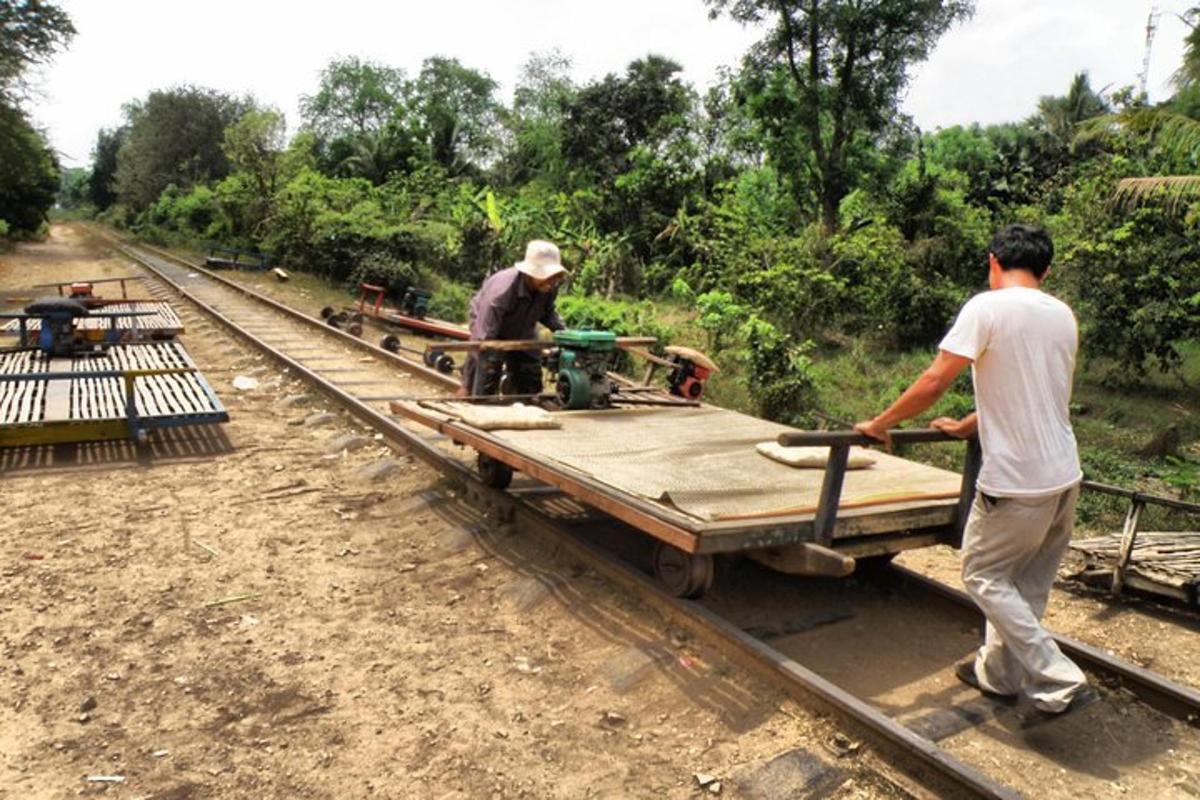
[[0, 446], [138, 438], [228, 419], [179, 342], [115, 344], [66, 359], [36, 349], [0, 353]]

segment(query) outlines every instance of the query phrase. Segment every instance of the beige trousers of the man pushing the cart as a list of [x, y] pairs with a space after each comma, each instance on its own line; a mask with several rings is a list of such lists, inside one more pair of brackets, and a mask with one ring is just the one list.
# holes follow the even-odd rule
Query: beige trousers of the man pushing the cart
[[1036, 498], [976, 492], [962, 534], [962, 583], [988, 619], [976, 676], [989, 691], [1025, 693], [1046, 711], [1067, 708], [1087, 682], [1042, 627], [1078, 498], [1078, 486]]

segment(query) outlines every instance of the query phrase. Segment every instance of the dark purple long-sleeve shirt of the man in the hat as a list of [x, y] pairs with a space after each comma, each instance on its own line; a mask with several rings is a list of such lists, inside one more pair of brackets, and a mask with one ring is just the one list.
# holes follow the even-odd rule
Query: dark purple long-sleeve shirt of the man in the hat
[[517, 267], [491, 275], [470, 299], [470, 338], [532, 339], [541, 323], [552, 331], [566, 327], [554, 309], [558, 289], [533, 291]]

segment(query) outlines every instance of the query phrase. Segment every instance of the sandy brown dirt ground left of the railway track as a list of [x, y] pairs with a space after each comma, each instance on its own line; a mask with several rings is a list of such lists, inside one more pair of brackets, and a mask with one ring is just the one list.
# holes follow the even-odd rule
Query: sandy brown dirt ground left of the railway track
[[[60, 225], [0, 291], [131, 269]], [[220, 432], [0, 457], [0, 796], [902, 796], [180, 311]]]

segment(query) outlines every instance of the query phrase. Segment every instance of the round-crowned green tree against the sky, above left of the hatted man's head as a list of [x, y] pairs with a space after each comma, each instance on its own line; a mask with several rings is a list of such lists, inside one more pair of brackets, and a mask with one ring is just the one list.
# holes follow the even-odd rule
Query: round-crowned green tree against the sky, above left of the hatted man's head
[[457, 59], [425, 59], [412, 108], [432, 160], [451, 176], [484, 167], [494, 155], [500, 106], [496, 82]]

